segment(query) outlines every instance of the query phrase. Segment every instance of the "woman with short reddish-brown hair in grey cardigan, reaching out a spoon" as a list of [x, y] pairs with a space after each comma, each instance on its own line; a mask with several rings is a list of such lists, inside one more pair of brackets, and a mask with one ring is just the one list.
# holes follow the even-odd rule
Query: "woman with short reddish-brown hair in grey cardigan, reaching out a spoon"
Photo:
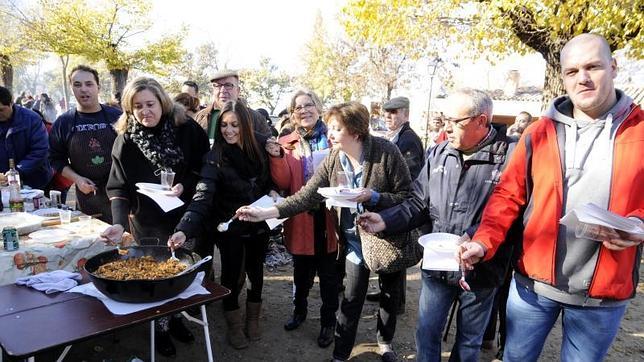
[[[349, 183], [357, 188], [352, 201], [356, 209], [338, 210], [337, 230], [345, 241], [346, 289], [335, 327], [334, 360], [344, 361], [351, 355], [360, 313], [369, 287], [370, 270], [362, 256], [362, 241], [356, 232], [357, 210], [379, 211], [403, 201], [410, 190], [411, 177], [404, 158], [393, 143], [369, 135], [369, 111], [357, 102], [331, 107], [325, 114], [329, 140], [333, 149], [311, 179], [295, 195], [270, 208], [244, 206], [239, 218], [261, 221], [274, 217], [292, 217], [315, 210], [324, 197], [320, 187], [336, 187], [338, 172], [352, 174]], [[380, 273], [382, 290], [378, 311], [377, 338], [384, 361], [394, 361], [391, 342], [396, 329], [396, 310], [400, 295], [400, 273]]]

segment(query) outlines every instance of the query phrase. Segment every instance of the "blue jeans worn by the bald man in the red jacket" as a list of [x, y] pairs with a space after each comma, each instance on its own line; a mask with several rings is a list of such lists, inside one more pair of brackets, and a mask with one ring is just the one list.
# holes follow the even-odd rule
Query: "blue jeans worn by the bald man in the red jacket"
[[503, 361], [536, 361], [562, 313], [561, 361], [601, 361], [619, 329], [626, 305], [582, 307], [542, 297], [512, 279]]

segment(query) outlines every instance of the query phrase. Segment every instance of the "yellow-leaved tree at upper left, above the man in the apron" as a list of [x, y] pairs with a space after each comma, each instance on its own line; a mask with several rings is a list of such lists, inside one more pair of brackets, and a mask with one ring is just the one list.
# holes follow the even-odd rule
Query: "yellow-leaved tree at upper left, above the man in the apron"
[[6, 13], [20, 22], [20, 33], [33, 49], [61, 58], [63, 78], [69, 55], [104, 62], [116, 94], [125, 86], [130, 69], [160, 73], [163, 65], [182, 59], [183, 30], [153, 42], [136, 42], [151, 28], [150, 4], [149, 0], [38, 0], [28, 8], [11, 2]]

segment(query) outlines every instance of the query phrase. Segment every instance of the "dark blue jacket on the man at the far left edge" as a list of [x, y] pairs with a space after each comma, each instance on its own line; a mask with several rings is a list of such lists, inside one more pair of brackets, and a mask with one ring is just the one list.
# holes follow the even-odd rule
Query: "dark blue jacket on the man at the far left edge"
[[[7, 154], [3, 156], [16, 161], [22, 184], [45, 188], [53, 172], [47, 159], [49, 139], [42, 118], [32, 110], [14, 105], [4, 142]], [[0, 165], [0, 172], [8, 169], [8, 162]]]

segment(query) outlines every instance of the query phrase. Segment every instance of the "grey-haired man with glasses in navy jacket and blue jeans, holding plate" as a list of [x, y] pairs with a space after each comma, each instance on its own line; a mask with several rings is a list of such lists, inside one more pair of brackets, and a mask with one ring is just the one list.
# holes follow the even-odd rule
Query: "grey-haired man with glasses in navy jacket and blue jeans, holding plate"
[[[516, 141], [505, 126], [492, 125], [492, 100], [483, 91], [461, 89], [445, 109], [447, 142], [432, 148], [424, 168], [403, 203], [379, 213], [364, 213], [368, 232], [396, 234], [420, 227], [432, 233], [474, 234], [488, 195], [492, 193]], [[477, 265], [459, 283], [461, 272], [429, 270], [422, 265], [416, 348], [418, 361], [441, 360], [441, 334], [450, 306], [458, 299], [456, 342], [450, 360], [477, 361], [496, 288], [509, 264], [511, 245], [494, 259]], [[468, 290], [469, 289], [469, 290]]]

